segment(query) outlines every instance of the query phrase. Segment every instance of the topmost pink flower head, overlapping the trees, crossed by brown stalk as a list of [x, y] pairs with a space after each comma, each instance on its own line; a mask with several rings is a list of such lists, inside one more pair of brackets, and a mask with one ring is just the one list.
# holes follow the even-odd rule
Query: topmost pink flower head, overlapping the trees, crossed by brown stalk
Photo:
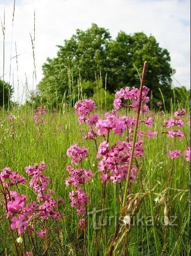
[[[149, 97], [147, 96], [149, 92], [149, 88], [146, 86], [143, 87], [143, 93], [142, 93], [142, 99], [141, 101], [144, 103], [148, 103], [150, 101]], [[130, 89], [129, 87], [126, 87], [125, 89], [120, 89], [119, 91], [116, 92], [115, 94], [115, 100], [114, 100], [114, 108], [119, 109], [121, 107], [130, 107], [133, 108], [135, 111], [138, 110], [138, 102], [139, 102], [139, 96], [140, 96], [140, 91], [138, 88], [132, 88]], [[131, 105], [127, 106], [127, 100], [133, 101]], [[143, 105], [142, 107], [142, 112], [148, 113], [148, 108], [146, 105]]]

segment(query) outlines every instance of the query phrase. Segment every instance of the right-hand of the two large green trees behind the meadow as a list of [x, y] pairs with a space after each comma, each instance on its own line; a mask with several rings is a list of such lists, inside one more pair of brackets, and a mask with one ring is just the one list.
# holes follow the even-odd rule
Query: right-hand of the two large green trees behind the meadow
[[119, 32], [108, 47], [108, 58], [110, 84], [116, 82], [117, 88], [126, 85], [139, 87], [142, 66], [147, 61], [145, 84], [152, 90], [153, 97], [161, 99], [159, 88], [168, 98], [172, 96], [170, 54], [159, 47], [153, 35], [147, 37], [143, 32], [133, 35]]

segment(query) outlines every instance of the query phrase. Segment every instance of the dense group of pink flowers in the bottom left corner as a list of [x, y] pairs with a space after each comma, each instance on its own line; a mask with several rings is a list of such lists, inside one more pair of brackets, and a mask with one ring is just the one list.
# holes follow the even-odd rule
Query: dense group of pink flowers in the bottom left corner
[[[25, 184], [26, 179], [8, 167], [4, 168], [0, 173], [0, 183], [3, 186], [1, 192], [4, 195], [6, 203], [7, 218], [13, 216], [11, 219], [11, 229], [17, 229], [18, 234], [23, 234], [30, 222], [42, 218], [44, 221], [48, 219], [57, 219], [64, 217], [64, 214], [60, 214], [56, 211], [57, 205], [60, 202], [64, 202], [62, 198], [53, 200], [53, 190], [47, 190], [49, 178], [42, 175], [42, 171], [46, 168], [44, 162], [39, 165], [28, 166], [25, 171], [29, 176], [32, 176], [30, 181], [30, 187], [38, 193], [37, 199], [41, 204], [33, 201], [28, 202], [25, 195], [10, 190], [10, 186], [18, 184]], [[40, 233], [39, 233], [39, 236]]]

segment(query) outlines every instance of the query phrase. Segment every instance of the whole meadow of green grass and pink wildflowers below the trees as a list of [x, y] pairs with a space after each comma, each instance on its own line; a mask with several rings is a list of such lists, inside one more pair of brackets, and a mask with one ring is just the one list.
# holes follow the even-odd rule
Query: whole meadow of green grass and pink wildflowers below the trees
[[106, 113], [0, 111], [0, 255], [190, 254], [190, 103], [149, 110], [143, 78]]

